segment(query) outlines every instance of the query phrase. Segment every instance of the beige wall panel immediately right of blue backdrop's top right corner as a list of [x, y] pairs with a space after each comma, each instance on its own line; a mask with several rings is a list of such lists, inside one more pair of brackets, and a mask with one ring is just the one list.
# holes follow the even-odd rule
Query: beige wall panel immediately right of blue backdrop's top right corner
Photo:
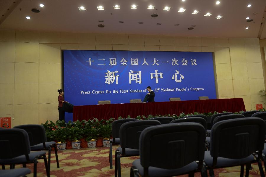
[[215, 47], [215, 63], [230, 63], [230, 52], [227, 47]]

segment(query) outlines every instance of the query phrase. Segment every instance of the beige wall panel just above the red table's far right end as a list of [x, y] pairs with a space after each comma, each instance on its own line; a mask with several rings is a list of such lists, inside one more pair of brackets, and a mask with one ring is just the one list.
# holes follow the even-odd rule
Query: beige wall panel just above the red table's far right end
[[235, 96], [250, 95], [248, 79], [234, 79], [233, 86]]

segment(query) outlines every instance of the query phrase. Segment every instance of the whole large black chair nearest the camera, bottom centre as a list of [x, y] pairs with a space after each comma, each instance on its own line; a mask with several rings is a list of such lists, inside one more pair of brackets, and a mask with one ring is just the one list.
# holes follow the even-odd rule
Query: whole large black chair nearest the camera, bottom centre
[[206, 130], [199, 123], [170, 123], [144, 129], [140, 135], [140, 159], [134, 160], [130, 176], [194, 177], [195, 172], [205, 169], [205, 138]]

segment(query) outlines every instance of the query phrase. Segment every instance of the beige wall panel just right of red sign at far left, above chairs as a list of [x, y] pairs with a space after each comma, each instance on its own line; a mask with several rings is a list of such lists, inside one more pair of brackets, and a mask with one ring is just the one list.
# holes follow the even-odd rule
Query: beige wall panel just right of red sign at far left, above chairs
[[39, 124], [38, 104], [15, 104], [14, 126], [25, 124]]

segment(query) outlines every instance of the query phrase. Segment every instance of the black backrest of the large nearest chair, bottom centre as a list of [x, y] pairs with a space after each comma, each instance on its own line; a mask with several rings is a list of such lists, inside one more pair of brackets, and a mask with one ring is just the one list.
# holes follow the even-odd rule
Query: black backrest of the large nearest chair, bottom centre
[[196, 160], [202, 164], [205, 139], [205, 128], [199, 123], [171, 123], [146, 128], [140, 135], [140, 164], [144, 173], [150, 166], [176, 169]]

